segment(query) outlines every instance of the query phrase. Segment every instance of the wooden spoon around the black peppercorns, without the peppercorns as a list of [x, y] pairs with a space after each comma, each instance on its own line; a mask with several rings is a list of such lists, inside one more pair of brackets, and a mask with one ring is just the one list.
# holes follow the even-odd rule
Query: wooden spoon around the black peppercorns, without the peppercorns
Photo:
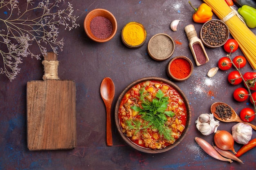
[[216, 106], [220, 105], [220, 104], [224, 104], [225, 106], [229, 106], [228, 104], [225, 104], [225, 103], [222, 103], [222, 102], [216, 102], [216, 103], [213, 103], [211, 105], [211, 113], [214, 115], [214, 117], [220, 121], [224, 121], [224, 122], [242, 122], [244, 124], [248, 124], [250, 126], [252, 126], [252, 128], [254, 130], [256, 130], [256, 126], [253, 125], [253, 124], [250, 124], [248, 122], [245, 122], [243, 120], [240, 119], [240, 117], [236, 114], [235, 110], [233, 108], [231, 108], [231, 106], [229, 106], [231, 108], [231, 112], [232, 112], [232, 116], [231, 118], [228, 118], [227, 120], [225, 119], [221, 119], [220, 117], [218, 117], [218, 115], [215, 113], [216, 111]]

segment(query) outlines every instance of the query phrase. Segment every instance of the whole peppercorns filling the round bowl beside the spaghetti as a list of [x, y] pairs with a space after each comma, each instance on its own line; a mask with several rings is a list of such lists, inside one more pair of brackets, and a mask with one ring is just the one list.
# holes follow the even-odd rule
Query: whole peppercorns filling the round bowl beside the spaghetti
[[227, 28], [217, 20], [207, 22], [202, 27], [202, 39], [211, 46], [219, 46], [225, 42]]

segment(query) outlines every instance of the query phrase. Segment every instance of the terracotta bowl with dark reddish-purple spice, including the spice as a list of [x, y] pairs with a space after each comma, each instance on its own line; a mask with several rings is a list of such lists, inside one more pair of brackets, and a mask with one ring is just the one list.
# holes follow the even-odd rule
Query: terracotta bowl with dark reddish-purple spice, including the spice
[[95, 42], [107, 42], [117, 33], [117, 20], [106, 9], [94, 9], [90, 11], [83, 23], [88, 37]]

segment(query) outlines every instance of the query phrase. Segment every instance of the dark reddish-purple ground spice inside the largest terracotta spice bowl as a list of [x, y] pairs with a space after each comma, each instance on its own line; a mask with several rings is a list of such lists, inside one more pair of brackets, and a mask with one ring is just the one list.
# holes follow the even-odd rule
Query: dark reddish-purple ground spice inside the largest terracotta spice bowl
[[102, 16], [92, 18], [90, 29], [92, 34], [99, 39], [108, 38], [113, 30], [110, 20]]

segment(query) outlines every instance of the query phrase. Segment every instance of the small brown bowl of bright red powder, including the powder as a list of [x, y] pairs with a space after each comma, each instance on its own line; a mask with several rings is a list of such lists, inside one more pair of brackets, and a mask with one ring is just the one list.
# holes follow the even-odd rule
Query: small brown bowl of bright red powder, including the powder
[[193, 63], [188, 57], [177, 56], [170, 60], [166, 72], [171, 79], [181, 82], [188, 79], [193, 73]]

